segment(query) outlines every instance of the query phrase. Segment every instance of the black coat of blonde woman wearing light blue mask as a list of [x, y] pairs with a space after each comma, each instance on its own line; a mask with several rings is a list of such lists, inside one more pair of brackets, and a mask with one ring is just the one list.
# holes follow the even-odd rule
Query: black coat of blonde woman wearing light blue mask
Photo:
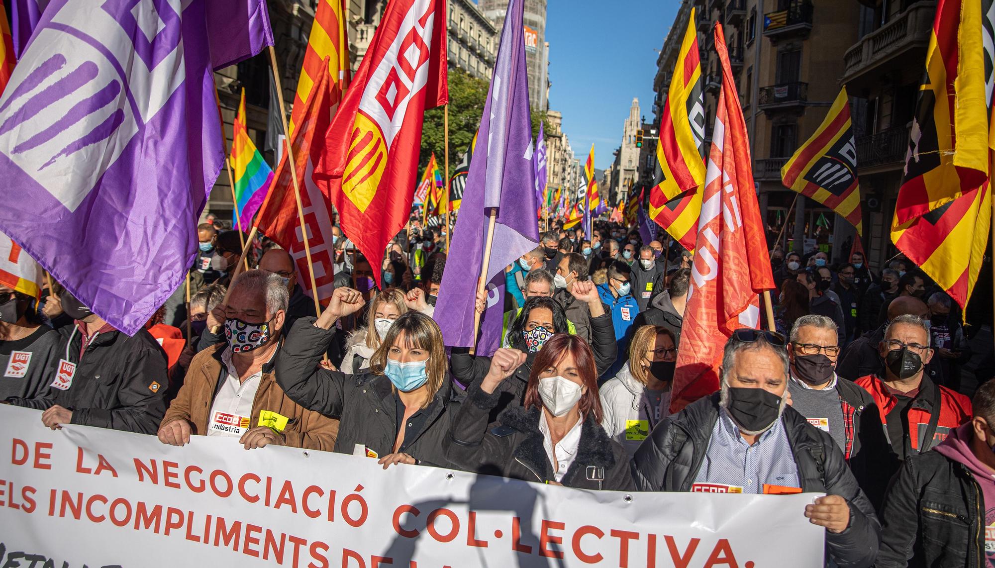
[[[399, 427], [393, 385], [384, 375], [347, 375], [318, 363], [335, 328], [314, 326], [314, 317], [301, 317], [277, 355], [277, 384], [300, 406], [338, 418], [335, 452], [352, 454], [362, 444], [381, 458], [393, 453]], [[428, 408], [421, 432], [401, 449], [427, 466], [448, 467], [442, 451], [460, 403], [447, 378]]]

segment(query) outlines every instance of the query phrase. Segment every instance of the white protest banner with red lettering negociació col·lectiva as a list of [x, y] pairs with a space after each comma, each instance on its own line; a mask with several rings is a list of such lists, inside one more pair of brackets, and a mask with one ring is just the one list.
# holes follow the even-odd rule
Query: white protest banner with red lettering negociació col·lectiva
[[0, 566], [823, 565], [812, 493], [587, 491], [0, 419]]

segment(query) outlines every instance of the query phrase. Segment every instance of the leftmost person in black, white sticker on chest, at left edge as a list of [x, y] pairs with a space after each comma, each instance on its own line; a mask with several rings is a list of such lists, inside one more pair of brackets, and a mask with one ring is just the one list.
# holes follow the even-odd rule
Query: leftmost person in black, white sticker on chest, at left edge
[[59, 366], [59, 333], [42, 325], [35, 298], [0, 284], [0, 401], [35, 398]]

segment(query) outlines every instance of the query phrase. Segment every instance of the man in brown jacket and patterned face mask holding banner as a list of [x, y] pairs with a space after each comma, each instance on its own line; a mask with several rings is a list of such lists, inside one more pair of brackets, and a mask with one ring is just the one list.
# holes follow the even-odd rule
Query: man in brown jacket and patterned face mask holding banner
[[159, 426], [163, 444], [183, 446], [191, 434], [237, 438], [247, 450], [269, 444], [331, 452], [338, 420], [305, 410], [284, 394], [273, 367], [287, 318], [289, 292], [266, 271], [239, 275], [208, 316], [225, 343], [194, 356]]

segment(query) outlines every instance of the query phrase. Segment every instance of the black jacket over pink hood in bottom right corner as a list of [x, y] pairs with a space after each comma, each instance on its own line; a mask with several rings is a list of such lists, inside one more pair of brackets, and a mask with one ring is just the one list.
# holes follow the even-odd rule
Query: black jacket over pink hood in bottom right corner
[[938, 452], [905, 460], [882, 518], [878, 568], [988, 567], [981, 486], [966, 467]]

